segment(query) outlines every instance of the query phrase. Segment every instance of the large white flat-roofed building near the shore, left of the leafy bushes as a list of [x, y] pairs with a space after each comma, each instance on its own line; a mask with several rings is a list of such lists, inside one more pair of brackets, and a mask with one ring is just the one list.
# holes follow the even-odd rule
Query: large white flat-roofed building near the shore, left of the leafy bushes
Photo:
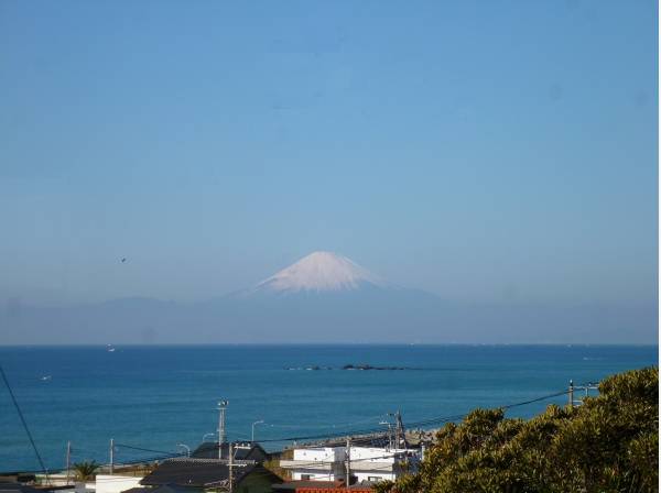
[[289, 469], [293, 480], [346, 481], [348, 465], [354, 484], [395, 480], [420, 462], [420, 451], [413, 449], [351, 447], [348, 456], [345, 447], [301, 448], [294, 449], [293, 459], [282, 459], [280, 467]]

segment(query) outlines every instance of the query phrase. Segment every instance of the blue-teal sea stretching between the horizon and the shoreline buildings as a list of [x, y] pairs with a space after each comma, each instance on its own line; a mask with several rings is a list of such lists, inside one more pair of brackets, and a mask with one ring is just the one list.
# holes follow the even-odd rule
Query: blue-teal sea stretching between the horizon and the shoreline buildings
[[[576, 383], [658, 364], [657, 347], [615, 346], [206, 346], [0, 348], [15, 396], [50, 469], [73, 460], [118, 461], [198, 445], [217, 428], [216, 403], [229, 401], [230, 439], [280, 439], [379, 426], [400, 409], [404, 424], [476, 406], [528, 401]], [[342, 370], [345, 364], [405, 370]], [[306, 370], [319, 366], [321, 370]], [[330, 368], [326, 370], [323, 368]], [[0, 385], [1, 386], [1, 385]], [[531, 416], [549, 403], [518, 407]], [[279, 442], [264, 442], [274, 449]], [[181, 450], [181, 448], [178, 449]], [[0, 388], [0, 471], [39, 463]]]

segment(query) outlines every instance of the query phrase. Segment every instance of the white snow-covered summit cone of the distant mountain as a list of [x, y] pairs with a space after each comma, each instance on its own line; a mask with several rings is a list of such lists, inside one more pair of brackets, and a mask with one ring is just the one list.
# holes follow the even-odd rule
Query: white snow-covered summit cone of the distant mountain
[[353, 291], [388, 284], [346, 256], [314, 252], [259, 283], [254, 291], [275, 293]]

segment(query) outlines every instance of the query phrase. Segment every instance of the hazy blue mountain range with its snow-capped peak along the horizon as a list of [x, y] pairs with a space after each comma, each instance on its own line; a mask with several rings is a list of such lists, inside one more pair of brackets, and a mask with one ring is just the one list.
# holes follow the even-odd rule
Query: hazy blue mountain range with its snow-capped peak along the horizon
[[206, 302], [8, 307], [0, 310], [0, 344], [644, 343], [655, 333], [658, 313], [655, 306], [451, 303], [324, 251]]

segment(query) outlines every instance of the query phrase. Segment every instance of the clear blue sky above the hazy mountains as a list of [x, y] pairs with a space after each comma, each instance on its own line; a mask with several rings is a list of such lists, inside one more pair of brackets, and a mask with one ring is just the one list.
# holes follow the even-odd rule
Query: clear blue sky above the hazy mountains
[[330, 250], [449, 299], [653, 302], [657, 19], [2, 1], [0, 300], [204, 299]]

